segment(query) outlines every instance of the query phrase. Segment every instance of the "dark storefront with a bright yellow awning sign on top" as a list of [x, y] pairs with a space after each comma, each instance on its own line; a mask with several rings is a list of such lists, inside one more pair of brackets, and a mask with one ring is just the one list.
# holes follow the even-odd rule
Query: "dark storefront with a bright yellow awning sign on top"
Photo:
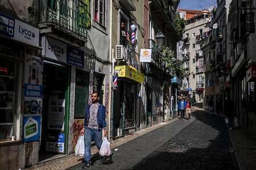
[[118, 90], [114, 91], [113, 138], [130, 134], [140, 126], [137, 99], [144, 75], [131, 66], [115, 66]]

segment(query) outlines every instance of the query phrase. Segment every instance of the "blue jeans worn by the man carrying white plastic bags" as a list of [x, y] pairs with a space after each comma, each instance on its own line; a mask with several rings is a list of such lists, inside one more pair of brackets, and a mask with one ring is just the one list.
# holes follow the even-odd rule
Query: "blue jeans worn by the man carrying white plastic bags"
[[94, 141], [96, 146], [100, 150], [101, 143], [102, 143], [101, 139], [102, 139], [102, 130], [99, 131], [98, 129], [90, 129], [90, 128], [85, 129], [85, 135], [84, 135], [85, 163], [92, 163], [90, 160], [92, 158], [92, 155], [90, 153], [91, 142]]

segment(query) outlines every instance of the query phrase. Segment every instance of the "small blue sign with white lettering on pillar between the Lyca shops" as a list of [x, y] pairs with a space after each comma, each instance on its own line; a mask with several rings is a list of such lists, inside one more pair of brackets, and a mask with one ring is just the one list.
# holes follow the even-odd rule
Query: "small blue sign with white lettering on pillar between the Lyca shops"
[[42, 97], [42, 85], [25, 83], [24, 96], [26, 97]]

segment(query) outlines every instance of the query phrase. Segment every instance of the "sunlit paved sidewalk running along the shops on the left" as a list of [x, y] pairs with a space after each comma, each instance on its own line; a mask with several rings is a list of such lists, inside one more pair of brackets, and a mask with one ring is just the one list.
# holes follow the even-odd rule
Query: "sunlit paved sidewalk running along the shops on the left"
[[[155, 126], [151, 126], [146, 129], [142, 129], [140, 131], [136, 131], [133, 134], [127, 135], [123, 138], [116, 139], [115, 141], [110, 142], [110, 146], [112, 148], [116, 148], [120, 145], [123, 145], [124, 143], [127, 143], [129, 141], [132, 141], [138, 137], [141, 137], [144, 134], [150, 133], [150, 131], [156, 130], [161, 128], [162, 126], [168, 125], [171, 122], [174, 122], [178, 120], [178, 118], [174, 118], [173, 120], [162, 122], [160, 124], [157, 124]], [[98, 149], [96, 146], [92, 147], [92, 156], [96, 156], [98, 153]], [[48, 162], [39, 163], [36, 165], [33, 165], [32, 167], [25, 168], [26, 170], [39, 170], [39, 169], [46, 169], [46, 170], [52, 170], [52, 169], [68, 169], [71, 168], [77, 164], [82, 163], [83, 158], [80, 156], [76, 156], [75, 154], [67, 155], [59, 159], [49, 160]]]

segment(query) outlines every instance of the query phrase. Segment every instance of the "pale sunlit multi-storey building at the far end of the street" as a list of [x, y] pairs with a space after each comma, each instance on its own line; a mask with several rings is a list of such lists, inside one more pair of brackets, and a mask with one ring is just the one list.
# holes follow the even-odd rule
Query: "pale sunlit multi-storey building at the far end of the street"
[[[196, 13], [195, 13], [196, 12]], [[188, 10], [188, 14], [191, 14]], [[203, 107], [205, 93], [204, 75], [204, 53], [205, 37], [209, 32], [206, 26], [210, 22], [210, 12], [208, 10], [194, 11], [193, 17], [187, 15], [186, 10], [180, 10], [181, 17], [189, 16], [185, 19], [187, 24], [183, 33], [181, 55], [183, 56], [184, 68], [187, 70], [183, 80], [183, 91], [187, 91], [191, 97], [195, 97], [196, 105]]]

